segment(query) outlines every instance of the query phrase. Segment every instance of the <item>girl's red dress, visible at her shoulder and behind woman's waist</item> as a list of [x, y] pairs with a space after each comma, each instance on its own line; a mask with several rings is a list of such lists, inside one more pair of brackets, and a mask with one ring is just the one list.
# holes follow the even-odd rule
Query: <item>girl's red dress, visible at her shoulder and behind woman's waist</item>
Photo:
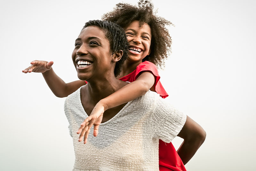
[[[168, 97], [167, 92], [159, 81], [160, 76], [158, 75], [156, 65], [149, 61], [140, 63], [132, 73], [120, 78], [119, 80], [133, 82], [140, 76], [141, 72], [144, 71], [149, 71], [156, 77], [156, 92], [163, 98]], [[159, 171], [169, 170], [186, 171], [186, 168], [172, 143], [165, 143], [164, 141], [159, 140]]]

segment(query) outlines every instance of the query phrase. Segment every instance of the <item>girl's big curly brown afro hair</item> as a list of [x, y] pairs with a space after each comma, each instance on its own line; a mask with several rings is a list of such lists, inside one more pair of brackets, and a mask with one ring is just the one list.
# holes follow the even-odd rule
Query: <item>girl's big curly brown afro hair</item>
[[151, 27], [151, 53], [143, 61], [150, 61], [156, 66], [164, 67], [164, 59], [171, 53], [172, 38], [166, 25], [173, 25], [170, 21], [156, 16], [153, 4], [148, 0], [140, 0], [138, 6], [118, 3], [113, 11], [102, 16], [103, 20], [117, 23], [121, 27], [128, 26], [132, 21], [138, 20], [140, 27], [147, 23]]

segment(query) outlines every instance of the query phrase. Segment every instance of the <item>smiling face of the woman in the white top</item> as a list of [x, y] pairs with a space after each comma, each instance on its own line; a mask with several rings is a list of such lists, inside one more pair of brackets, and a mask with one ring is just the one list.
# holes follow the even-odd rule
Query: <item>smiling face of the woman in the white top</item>
[[[94, 76], [103, 76], [112, 72], [115, 63], [105, 33], [96, 26], [85, 27], [75, 41], [72, 60], [80, 80], [89, 80]], [[114, 65], [114, 66], [113, 66]]]

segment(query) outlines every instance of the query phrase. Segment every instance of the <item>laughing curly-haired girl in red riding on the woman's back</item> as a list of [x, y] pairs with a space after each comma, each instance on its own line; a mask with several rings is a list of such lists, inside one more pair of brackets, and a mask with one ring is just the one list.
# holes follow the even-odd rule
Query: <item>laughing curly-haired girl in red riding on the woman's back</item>
[[[77, 133], [81, 133], [79, 141], [82, 141], [85, 135], [84, 143], [86, 142], [90, 130], [88, 128], [92, 127], [93, 124], [94, 136], [97, 136], [102, 114], [107, 109], [134, 100], [144, 95], [148, 89], [156, 91], [163, 98], [168, 96], [159, 81], [160, 76], [156, 65], [163, 66], [164, 59], [168, 57], [171, 51], [171, 36], [165, 25], [172, 23], [164, 18], [157, 17], [153, 13], [153, 5], [148, 1], [143, 2], [141, 0], [138, 4], [139, 7], [119, 3], [114, 11], [103, 16], [104, 20], [116, 22], [125, 30], [130, 44], [128, 59], [125, 60], [120, 75], [116, 76], [122, 81], [131, 83], [99, 101], [90, 117], [81, 124], [81, 128], [77, 131]], [[81, 80], [65, 83], [54, 73], [51, 67], [52, 61], [33, 61], [31, 64], [32, 66], [22, 72], [41, 72], [48, 86], [57, 97], [67, 97], [86, 84]], [[90, 63], [85, 62], [83, 65], [88, 66]], [[87, 125], [88, 127], [85, 127]], [[183, 163], [186, 164], [198, 148], [198, 145], [189, 146], [188, 148], [188, 142], [184, 141], [177, 153], [172, 143], [165, 144], [160, 140], [159, 169], [186, 170]]]

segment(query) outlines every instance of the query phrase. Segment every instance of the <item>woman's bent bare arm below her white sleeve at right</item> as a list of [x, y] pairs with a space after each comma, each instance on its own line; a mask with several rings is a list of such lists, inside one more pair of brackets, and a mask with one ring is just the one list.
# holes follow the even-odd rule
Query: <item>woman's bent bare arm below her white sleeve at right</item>
[[177, 152], [185, 165], [204, 143], [206, 132], [198, 123], [187, 116], [185, 125], [178, 136], [184, 139]]

